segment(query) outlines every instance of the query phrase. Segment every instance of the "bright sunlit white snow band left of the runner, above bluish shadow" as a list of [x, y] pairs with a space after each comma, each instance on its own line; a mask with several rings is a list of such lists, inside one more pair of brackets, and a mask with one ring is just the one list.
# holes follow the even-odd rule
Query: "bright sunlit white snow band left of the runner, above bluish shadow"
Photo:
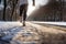
[[0, 22], [0, 29], [10, 29], [20, 25], [21, 25], [20, 22]]

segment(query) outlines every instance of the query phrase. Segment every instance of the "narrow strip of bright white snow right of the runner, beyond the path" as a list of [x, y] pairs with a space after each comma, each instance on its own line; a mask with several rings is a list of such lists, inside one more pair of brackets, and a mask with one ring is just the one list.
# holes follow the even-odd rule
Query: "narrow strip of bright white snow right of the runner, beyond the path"
[[52, 25], [63, 25], [66, 26], [66, 22], [44, 22], [44, 21], [31, 21], [32, 23], [40, 23], [40, 24], [52, 24]]

